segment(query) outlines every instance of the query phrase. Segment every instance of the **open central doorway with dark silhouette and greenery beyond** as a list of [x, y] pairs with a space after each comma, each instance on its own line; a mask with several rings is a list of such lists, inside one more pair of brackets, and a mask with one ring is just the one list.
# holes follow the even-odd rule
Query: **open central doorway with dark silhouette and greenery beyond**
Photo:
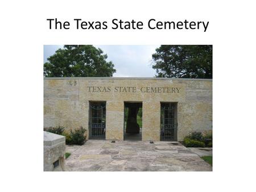
[[123, 139], [142, 140], [142, 102], [125, 102]]

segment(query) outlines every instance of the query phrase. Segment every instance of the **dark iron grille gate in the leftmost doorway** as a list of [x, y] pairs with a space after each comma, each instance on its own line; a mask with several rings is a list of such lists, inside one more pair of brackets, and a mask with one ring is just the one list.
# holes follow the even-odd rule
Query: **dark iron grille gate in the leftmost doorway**
[[104, 139], [106, 133], [106, 102], [90, 102], [89, 114], [90, 137]]

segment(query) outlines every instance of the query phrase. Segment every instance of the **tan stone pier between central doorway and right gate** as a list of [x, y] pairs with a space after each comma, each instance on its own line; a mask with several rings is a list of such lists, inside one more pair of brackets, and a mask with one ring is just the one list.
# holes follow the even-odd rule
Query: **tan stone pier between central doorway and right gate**
[[160, 141], [160, 102], [144, 101], [142, 107], [142, 141]]

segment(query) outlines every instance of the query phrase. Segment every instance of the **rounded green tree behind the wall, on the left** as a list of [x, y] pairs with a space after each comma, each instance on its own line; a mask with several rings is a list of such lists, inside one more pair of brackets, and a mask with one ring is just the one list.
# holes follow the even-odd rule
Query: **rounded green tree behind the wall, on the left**
[[112, 61], [93, 45], [64, 45], [44, 63], [45, 77], [112, 77]]

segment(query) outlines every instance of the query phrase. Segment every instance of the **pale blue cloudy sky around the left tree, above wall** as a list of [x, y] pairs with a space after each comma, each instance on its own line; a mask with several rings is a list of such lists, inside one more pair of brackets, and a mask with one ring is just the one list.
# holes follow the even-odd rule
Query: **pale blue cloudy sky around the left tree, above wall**
[[[94, 45], [108, 55], [117, 70], [113, 77], [155, 77], [152, 54], [160, 45]], [[44, 45], [44, 62], [63, 45]]]

